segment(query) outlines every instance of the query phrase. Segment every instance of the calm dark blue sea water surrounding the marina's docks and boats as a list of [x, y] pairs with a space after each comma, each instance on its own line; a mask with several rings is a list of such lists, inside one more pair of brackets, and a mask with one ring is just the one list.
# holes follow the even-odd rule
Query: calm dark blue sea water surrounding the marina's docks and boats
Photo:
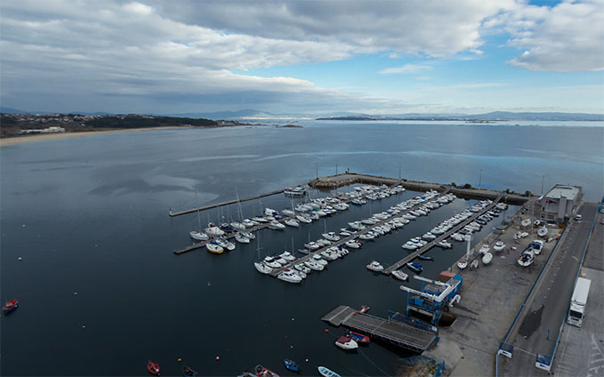
[[[472, 202], [457, 199], [302, 285], [258, 274], [251, 264], [256, 241], [218, 256], [174, 255], [190, 243], [198, 221], [238, 217], [238, 209], [201, 213], [199, 220], [170, 218], [168, 209], [222, 202], [236, 192], [248, 197], [347, 168], [397, 177], [401, 167], [412, 180], [480, 180], [484, 188], [536, 193], [544, 178], [545, 189], [556, 182], [583, 186], [589, 200], [600, 199], [604, 187], [602, 127], [299, 123], [305, 128], [157, 130], [0, 148], [0, 295], [3, 302], [20, 300], [17, 311], [0, 318], [0, 373], [144, 375], [153, 359], [173, 375], [178, 358], [204, 375], [235, 375], [258, 363], [284, 373], [282, 357], [290, 357], [304, 374], [316, 374], [317, 365], [347, 375], [392, 374], [407, 354], [379, 342], [343, 352], [333, 342], [344, 330], [320, 317], [341, 304], [370, 305], [380, 317], [403, 310], [399, 283], [365, 264], [397, 261], [406, 254], [402, 243]], [[259, 254], [291, 250], [292, 240], [298, 249], [324, 229], [415, 195], [353, 207], [300, 229], [263, 230]], [[242, 212], [258, 214], [261, 205], [282, 209], [290, 201], [266, 197], [242, 204]], [[459, 244], [429, 252], [436, 261], [424, 263], [423, 275], [435, 276], [464, 252]]]

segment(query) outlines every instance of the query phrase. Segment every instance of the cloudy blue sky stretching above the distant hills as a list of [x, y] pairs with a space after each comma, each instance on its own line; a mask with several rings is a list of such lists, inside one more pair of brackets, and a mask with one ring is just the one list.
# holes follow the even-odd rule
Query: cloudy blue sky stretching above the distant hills
[[0, 104], [604, 113], [604, 0], [4, 0]]

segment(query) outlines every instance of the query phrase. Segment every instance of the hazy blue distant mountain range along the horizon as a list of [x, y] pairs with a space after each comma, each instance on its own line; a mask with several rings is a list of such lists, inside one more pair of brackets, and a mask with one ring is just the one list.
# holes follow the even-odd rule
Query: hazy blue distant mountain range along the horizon
[[[0, 112], [5, 114], [53, 114], [49, 111], [24, 111], [18, 108], [0, 107]], [[115, 115], [107, 112], [77, 112], [72, 114], [110, 116]], [[231, 120], [231, 119], [253, 119], [253, 118], [308, 118], [312, 116], [304, 114], [274, 114], [267, 111], [256, 110], [253, 108], [244, 108], [237, 111], [215, 111], [211, 113], [180, 113], [180, 114], [149, 114], [155, 116], [179, 116], [204, 118], [212, 120]], [[511, 111], [493, 111], [486, 114], [425, 114], [425, 113], [406, 113], [392, 115], [375, 115], [351, 112], [332, 113], [327, 116], [317, 118], [319, 120], [464, 120], [464, 121], [604, 121], [604, 114], [585, 114], [585, 113], [560, 113], [560, 112], [522, 112], [514, 113]]]

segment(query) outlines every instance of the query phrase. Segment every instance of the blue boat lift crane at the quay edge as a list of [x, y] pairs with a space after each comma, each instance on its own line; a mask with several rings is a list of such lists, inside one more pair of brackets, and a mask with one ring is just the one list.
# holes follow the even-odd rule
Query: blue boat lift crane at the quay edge
[[421, 290], [401, 285], [401, 290], [407, 292], [407, 308], [405, 315], [409, 317], [409, 310], [415, 310], [427, 317], [430, 323], [438, 326], [442, 310], [448, 310], [461, 297], [457, 294], [461, 289], [461, 277], [452, 277], [447, 283], [425, 277], [414, 276], [421, 282]]

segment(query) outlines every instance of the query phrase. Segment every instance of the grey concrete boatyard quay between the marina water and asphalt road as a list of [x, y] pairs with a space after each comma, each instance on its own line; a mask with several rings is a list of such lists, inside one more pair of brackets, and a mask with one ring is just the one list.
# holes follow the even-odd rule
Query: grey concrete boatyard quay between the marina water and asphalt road
[[[461, 301], [451, 309], [457, 316], [449, 328], [441, 327], [441, 340], [430, 351], [434, 356], [445, 359], [445, 373], [453, 376], [495, 375], [495, 354], [499, 341], [505, 338], [505, 333], [513, 323], [513, 319], [526, 298], [533, 282], [544, 266], [555, 240], [544, 244], [543, 252], [528, 268], [518, 265], [516, 259], [530, 241], [536, 238], [536, 229], [526, 238], [514, 239], [514, 234], [521, 231], [521, 214], [529, 213], [529, 203], [508, 219], [512, 221], [504, 233], [491, 233], [475, 245], [473, 250], [479, 250], [481, 245], [493, 245], [501, 240], [505, 243], [504, 251], [494, 252], [493, 261], [485, 266], [479, 259], [476, 269], [457, 268], [457, 262], [450, 270], [464, 278]], [[506, 217], [507, 218], [507, 217]], [[550, 236], [561, 229], [550, 229]], [[475, 253], [471, 257], [478, 258]]]

